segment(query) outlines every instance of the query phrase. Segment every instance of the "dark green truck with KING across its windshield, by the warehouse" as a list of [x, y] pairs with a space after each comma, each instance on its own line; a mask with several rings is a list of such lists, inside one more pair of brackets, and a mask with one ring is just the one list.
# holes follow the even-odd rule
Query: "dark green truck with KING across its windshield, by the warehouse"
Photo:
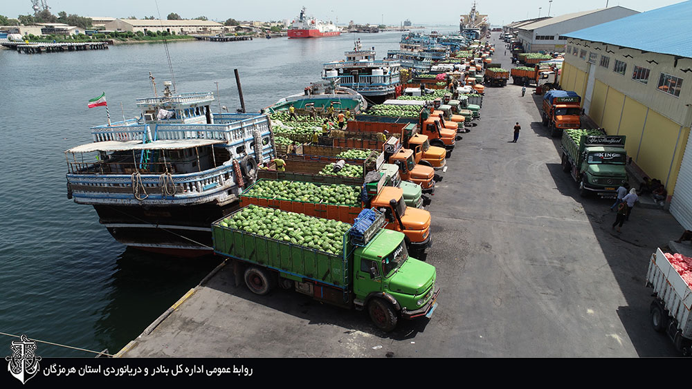
[[579, 182], [582, 197], [617, 197], [617, 187], [628, 179], [624, 135], [606, 135], [600, 129], [565, 129], [561, 148], [563, 171]]

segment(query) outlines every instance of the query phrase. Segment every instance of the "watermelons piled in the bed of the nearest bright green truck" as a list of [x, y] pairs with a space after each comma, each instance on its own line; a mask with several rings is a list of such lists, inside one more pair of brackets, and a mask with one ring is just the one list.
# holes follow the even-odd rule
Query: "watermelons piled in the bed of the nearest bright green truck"
[[351, 229], [345, 222], [257, 205], [248, 205], [219, 225], [334, 255], [343, 253], [343, 236]]

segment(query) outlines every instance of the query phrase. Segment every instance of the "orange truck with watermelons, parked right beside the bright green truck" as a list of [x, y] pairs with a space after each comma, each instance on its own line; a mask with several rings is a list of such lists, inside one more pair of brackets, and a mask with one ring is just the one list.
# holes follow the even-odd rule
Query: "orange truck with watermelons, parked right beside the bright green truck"
[[[296, 212], [306, 216], [316, 216], [318, 218], [326, 218], [339, 220], [353, 224], [354, 220], [364, 208], [376, 208], [379, 211], [385, 211], [388, 215], [387, 229], [402, 232], [406, 238], [406, 247], [410, 251], [422, 252], [432, 245], [430, 236], [430, 212], [425, 209], [417, 209], [407, 207], [403, 200], [403, 190], [397, 187], [378, 187], [370, 193], [361, 187], [352, 187], [354, 191], [365, 191], [365, 195], [361, 194], [361, 200], [354, 204], [349, 200], [342, 202], [330, 202], [328, 197], [321, 198], [320, 201], [304, 201], [296, 200], [295, 196], [289, 196], [289, 193], [271, 193], [271, 197], [251, 196], [248, 192], [255, 187], [261, 187], [262, 182], [266, 180], [257, 180], [250, 187], [246, 188], [240, 195], [241, 207], [247, 205], [258, 205], [260, 207], [269, 207], [281, 209], [283, 211]], [[285, 181], [289, 184], [300, 181]], [[318, 184], [319, 187], [333, 187], [338, 184]], [[379, 186], [379, 184], [378, 184]], [[326, 189], [329, 190], [329, 189]], [[322, 196], [320, 191], [319, 196]], [[363, 200], [365, 198], [365, 200]]]

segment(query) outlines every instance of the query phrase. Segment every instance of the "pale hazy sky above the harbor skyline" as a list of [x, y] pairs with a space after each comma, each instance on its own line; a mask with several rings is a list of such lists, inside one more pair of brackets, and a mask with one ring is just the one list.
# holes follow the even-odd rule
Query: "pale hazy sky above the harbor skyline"
[[[489, 21], [494, 25], [502, 25], [511, 21], [546, 16], [548, 8], [550, 15], [557, 16], [570, 12], [594, 10], [608, 6], [623, 6], [639, 12], [653, 10], [680, 3], [679, 0], [494, 0], [477, 1], [477, 9], [481, 14], [489, 15]], [[65, 11], [68, 14], [98, 17], [129, 17], [142, 19], [145, 16], [158, 18], [154, 0], [114, 0], [114, 1], [78, 1], [78, 0], [46, 0], [51, 12]], [[405, 19], [414, 24], [457, 25], [459, 15], [468, 14], [473, 4], [472, 0], [347, 0], [347, 1], [318, 1], [318, 0], [158, 0], [161, 17], [166, 18], [170, 12], [176, 12], [185, 19], [206, 16], [210, 20], [224, 21], [230, 17], [239, 20], [283, 20], [298, 17], [302, 6], [307, 7], [308, 15], [318, 19], [348, 23], [381, 23], [399, 25]], [[527, 12], [528, 10], [528, 12]], [[17, 17], [33, 13], [30, 0], [3, 0], [0, 5], [0, 15]]]

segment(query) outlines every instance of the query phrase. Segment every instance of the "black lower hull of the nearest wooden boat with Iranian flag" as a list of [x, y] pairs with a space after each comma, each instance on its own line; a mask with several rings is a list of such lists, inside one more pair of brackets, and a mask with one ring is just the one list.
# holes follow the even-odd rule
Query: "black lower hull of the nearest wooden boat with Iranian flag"
[[212, 222], [239, 207], [237, 200], [180, 207], [94, 205], [99, 222], [119, 243], [188, 258], [212, 254]]

